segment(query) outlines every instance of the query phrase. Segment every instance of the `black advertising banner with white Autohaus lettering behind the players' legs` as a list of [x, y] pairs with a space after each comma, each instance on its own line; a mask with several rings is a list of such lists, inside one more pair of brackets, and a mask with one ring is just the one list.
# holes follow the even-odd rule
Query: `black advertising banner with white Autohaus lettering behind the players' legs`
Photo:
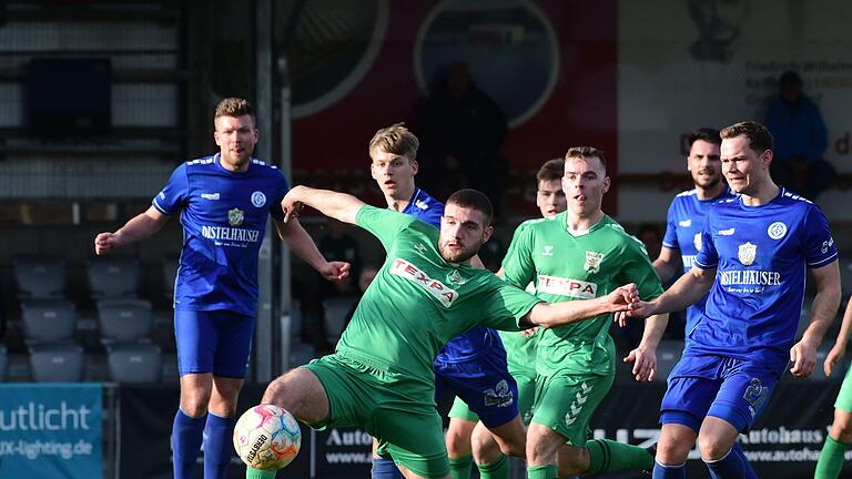
[[[621, 379], [621, 378], [619, 378]], [[839, 383], [782, 380], [754, 430], [740, 437], [746, 456], [758, 477], [793, 479], [812, 477], [828, 427]], [[257, 404], [263, 386], [243, 389], [239, 411]], [[596, 438], [648, 447], [659, 437], [659, 407], [663, 383], [617, 381], [591, 422]], [[122, 387], [120, 477], [156, 479], [171, 477], [170, 435], [178, 407], [176, 387]], [[849, 452], [848, 456], [852, 456]], [[699, 452], [688, 462], [690, 477], [707, 476]], [[852, 457], [848, 457], [852, 459]], [[201, 477], [203, 453], [199, 456]], [[371, 437], [359, 428], [329, 428], [314, 431], [302, 425], [302, 449], [278, 477], [348, 479], [369, 476]], [[842, 477], [852, 475], [848, 462]], [[234, 453], [229, 478], [244, 477], [245, 468]], [[601, 475], [600, 478], [643, 477], [639, 471]], [[645, 476], [647, 477], [647, 476]]]

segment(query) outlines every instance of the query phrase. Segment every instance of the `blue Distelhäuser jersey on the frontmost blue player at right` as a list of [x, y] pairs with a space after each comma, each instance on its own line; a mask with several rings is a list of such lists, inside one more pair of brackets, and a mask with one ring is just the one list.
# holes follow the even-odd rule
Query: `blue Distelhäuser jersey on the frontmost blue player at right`
[[696, 266], [717, 268], [704, 313], [687, 348], [737, 358], [783, 356], [793, 345], [804, 297], [805, 265], [836, 261], [819, 206], [781, 192], [761, 206], [739, 197], [708, 211]]

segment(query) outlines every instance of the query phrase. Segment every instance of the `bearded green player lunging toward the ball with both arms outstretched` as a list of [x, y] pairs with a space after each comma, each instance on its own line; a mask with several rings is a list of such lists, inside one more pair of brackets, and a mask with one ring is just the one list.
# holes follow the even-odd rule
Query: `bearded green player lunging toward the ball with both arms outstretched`
[[[433, 360], [474, 326], [555, 327], [638, 302], [636, 285], [606, 296], [548, 305], [469, 259], [493, 233], [491, 205], [474, 190], [447, 200], [440, 231], [410, 215], [367, 206], [354, 196], [297, 186], [282, 202], [286, 218], [307, 204], [357, 224], [387, 257], [331, 356], [272, 381], [263, 402], [315, 428], [361, 426], [387, 442], [406, 478], [447, 478], [449, 462], [434, 399]], [[271, 477], [250, 469], [246, 477]]]

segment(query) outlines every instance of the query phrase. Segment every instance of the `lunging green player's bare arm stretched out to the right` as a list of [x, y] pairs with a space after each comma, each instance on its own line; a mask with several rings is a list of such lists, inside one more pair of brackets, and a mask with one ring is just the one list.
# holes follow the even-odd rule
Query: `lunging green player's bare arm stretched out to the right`
[[[629, 298], [628, 298], [629, 297]], [[630, 308], [636, 299], [636, 285], [617, 288], [612, 293], [594, 299], [561, 303], [538, 303], [521, 318], [521, 325], [546, 328], [577, 323], [609, 313]]]

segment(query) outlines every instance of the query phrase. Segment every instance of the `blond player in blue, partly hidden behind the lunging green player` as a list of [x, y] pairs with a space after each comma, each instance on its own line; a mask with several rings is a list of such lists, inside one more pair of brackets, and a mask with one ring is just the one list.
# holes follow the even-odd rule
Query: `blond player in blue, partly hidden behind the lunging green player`
[[[369, 142], [369, 166], [390, 210], [440, 227], [444, 204], [415, 185], [417, 137], [403, 124], [376, 132]], [[478, 259], [475, 257], [475, 259]], [[501, 450], [524, 457], [525, 428], [518, 415], [517, 384], [508, 373], [506, 350], [494, 329], [476, 327], [450, 340], [435, 359], [436, 398], [453, 390], [477, 412], [495, 435]], [[476, 421], [450, 417], [446, 444], [450, 475], [469, 478], [473, 463], [470, 435]], [[498, 463], [480, 465], [480, 477], [508, 471], [503, 457]], [[481, 475], [485, 476], [481, 476]], [[373, 478], [402, 478], [392, 459], [373, 457]]]

